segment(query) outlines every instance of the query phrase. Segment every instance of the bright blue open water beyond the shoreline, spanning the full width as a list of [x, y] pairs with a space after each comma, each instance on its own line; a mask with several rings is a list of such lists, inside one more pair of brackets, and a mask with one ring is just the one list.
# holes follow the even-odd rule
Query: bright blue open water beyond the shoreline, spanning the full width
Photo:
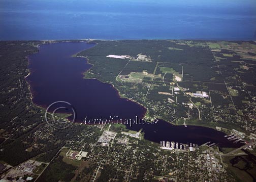
[[255, 0], [0, 0], [0, 40], [248, 40], [255, 9]]

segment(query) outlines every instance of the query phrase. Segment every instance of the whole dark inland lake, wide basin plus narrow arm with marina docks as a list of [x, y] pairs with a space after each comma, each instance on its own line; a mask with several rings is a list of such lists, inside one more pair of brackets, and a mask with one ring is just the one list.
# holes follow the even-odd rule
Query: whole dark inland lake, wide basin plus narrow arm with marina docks
[[[95, 46], [85, 42], [60, 42], [40, 45], [39, 52], [29, 56], [26, 77], [33, 93], [33, 102], [47, 108], [56, 101], [71, 103], [77, 112], [77, 122], [84, 117], [142, 118], [146, 109], [141, 105], [119, 97], [110, 84], [97, 79], [84, 79], [83, 73], [91, 66], [85, 58], [72, 55]], [[179, 143], [204, 144], [214, 142], [219, 146], [236, 147], [229, 142], [225, 133], [202, 126], [173, 126], [163, 120], [156, 124], [132, 125], [129, 129], [143, 129], [145, 139], [159, 143], [174, 141]]]

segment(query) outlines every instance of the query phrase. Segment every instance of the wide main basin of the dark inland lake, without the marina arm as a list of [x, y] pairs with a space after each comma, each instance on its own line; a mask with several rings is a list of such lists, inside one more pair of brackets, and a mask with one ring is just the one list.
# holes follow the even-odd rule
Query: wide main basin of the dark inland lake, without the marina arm
[[27, 77], [31, 84], [33, 102], [47, 108], [57, 101], [72, 104], [77, 112], [77, 122], [87, 118], [142, 117], [145, 108], [135, 102], [121, 99], [110, 84], [97, 79], [83, 79], [91, 65], [85, 58], [72, 55], [93, 47], [84, 42], [62, 42], [40, 45], [37, 54], [29, 56]]

